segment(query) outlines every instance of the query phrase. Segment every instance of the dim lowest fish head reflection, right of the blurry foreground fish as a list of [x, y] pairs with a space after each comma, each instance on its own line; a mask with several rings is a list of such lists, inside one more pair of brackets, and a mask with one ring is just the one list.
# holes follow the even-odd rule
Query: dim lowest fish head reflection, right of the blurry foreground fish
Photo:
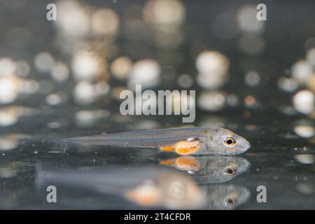
[[208, 209], [231, 210], [244, 204], [251, 197], [249, 190], [235, 185], [209, 186], [207, 192]]

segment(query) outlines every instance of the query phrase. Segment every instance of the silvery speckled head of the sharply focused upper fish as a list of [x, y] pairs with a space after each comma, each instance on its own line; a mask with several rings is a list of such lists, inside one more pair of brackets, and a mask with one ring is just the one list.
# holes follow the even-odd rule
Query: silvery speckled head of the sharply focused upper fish
[[208, 153], [218, 155], [237, 155], [251, 148], [251, 144], [244, 137], [224, 128], [207, 130], [203, 141]]

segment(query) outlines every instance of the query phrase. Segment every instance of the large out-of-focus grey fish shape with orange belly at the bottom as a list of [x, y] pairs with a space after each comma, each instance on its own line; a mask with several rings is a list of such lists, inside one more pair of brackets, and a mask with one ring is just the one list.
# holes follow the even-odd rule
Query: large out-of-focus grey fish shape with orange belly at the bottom
[[197, 209], [205, 205], [205, 192], [184, 174], [154, 168], [68, 170], [36, 172], [36, 186], [60, 184], [123, 196], [141, 207]]

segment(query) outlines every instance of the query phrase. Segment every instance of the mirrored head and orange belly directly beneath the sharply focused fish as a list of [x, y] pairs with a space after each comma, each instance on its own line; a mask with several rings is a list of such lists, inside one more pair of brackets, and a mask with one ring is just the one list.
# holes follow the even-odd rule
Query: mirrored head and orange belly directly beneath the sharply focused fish
[[193, 174], [200, 183], [224, 183], [246, 172], [251, 163], [237, 156], [181, 156], [161, 160], [160, 165], [175, 167]]

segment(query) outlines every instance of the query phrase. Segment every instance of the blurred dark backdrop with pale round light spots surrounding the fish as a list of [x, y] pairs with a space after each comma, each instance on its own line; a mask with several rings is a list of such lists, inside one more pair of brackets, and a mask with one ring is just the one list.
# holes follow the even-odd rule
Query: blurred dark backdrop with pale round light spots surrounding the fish
[[[46, 19], [48, 3], [56, 21]], [[258, 3], [265, 21], [256, 19]], [[120, 92], [141, 84], [196, 90], [191, 125], [227, 127], [251, 142], [251, 169], [235, 183], [253, 194], [263, 183], [272, 198], [258, 204], [253, 195], [241, 208], [314, 209], [314, 10], [311, 1], [1, 0], [0, 207], [41, 207], [20, 197], [33, 189], [36, 162], [155, 161], [154, 151], [93, 147], [65, 156], [53, 144], [186, 125], [181, 116], [122, 116]]]

